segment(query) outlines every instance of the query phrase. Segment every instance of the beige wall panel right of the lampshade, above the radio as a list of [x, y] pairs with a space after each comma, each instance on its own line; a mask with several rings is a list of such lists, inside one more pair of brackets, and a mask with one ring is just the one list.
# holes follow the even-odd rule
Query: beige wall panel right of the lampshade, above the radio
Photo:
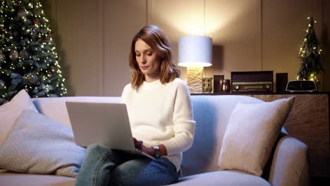
[[214, 61], [205, 76], [262, 70], [261, 0], [206, 1], [206, 35], [212, 37]]

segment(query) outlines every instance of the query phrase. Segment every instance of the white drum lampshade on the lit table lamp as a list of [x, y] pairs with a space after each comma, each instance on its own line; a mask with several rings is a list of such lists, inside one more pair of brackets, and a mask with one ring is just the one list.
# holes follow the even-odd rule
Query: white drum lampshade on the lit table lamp
[[179, 66], [212, 66], [212, 38], [184, 36], [178, 41]]

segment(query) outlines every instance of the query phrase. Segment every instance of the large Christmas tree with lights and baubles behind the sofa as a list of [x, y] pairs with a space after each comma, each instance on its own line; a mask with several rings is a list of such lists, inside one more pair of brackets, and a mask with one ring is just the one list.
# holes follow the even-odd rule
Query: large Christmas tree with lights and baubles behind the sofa
[[21, 89], [30, 97], [66, 94], [49, 27], [39, 0], [1, 0], [0, 104]]

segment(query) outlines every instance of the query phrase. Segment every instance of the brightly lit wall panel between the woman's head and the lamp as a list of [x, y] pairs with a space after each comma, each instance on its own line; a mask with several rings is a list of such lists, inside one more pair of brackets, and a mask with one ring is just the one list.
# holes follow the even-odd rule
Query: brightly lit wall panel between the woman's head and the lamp
[[[203, 0], [147, 0], [148, 24], [164, 30], [172, 44], [174, 63], [178, 63], [178, 39], [181, 36], [203, 35], [203, 6]], [[179, 69], [181, 79], [186, 80], [186, 68], [179, 66]]]

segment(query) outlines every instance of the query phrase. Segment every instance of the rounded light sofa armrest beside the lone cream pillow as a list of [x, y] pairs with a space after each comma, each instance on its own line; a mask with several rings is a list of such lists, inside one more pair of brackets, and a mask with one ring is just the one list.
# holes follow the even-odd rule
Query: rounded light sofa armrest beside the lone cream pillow
[[307, 146], [295, 137], [282, 137], [276, 145], [269, 182], [274, 186], [310, 185]]

